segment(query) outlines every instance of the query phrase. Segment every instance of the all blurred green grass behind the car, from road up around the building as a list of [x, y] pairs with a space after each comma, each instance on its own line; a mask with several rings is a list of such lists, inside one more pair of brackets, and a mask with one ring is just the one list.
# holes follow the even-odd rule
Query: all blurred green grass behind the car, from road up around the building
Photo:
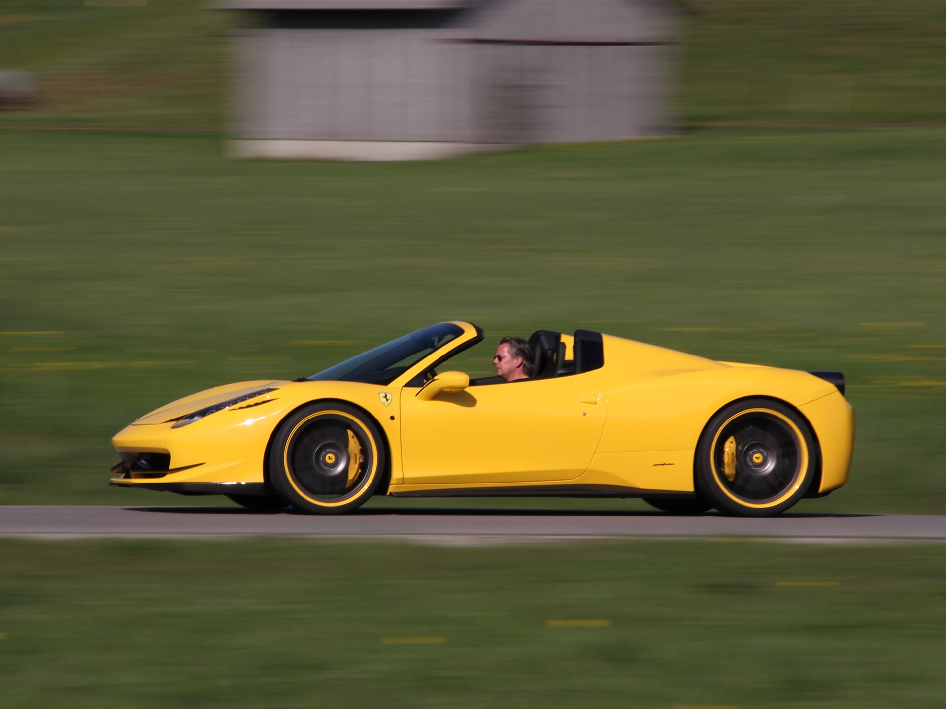
[[683, 7], [676, 138], [326, 164], [222, 155], [232, 15], [5, 0], [0, 500], [144, 501], [138, 415], [464, 318], [842, 370], [852, 481], [798, 510], [942, 512], [946, 3]]

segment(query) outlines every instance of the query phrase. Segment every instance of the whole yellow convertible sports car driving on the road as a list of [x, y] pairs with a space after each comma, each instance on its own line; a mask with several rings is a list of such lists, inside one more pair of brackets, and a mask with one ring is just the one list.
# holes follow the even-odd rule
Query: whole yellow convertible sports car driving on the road
[[441, 322], [307, 378], [162, 406], [114, 437], [111, 484], [322, 513], [373, 494], [593, 495], [767, 516], [848, 479], [854, 418], [840, 372], [715, 362], [587, 330], [534, 333], [526, 379], [449, 369], [482, 339], [472, 323]]

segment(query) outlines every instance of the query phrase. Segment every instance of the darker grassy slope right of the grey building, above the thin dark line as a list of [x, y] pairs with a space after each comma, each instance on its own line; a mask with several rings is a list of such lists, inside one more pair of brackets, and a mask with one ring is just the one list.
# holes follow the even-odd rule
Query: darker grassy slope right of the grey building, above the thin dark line
[[946, 123], [943, 0], [686, 0], [690, 124]]

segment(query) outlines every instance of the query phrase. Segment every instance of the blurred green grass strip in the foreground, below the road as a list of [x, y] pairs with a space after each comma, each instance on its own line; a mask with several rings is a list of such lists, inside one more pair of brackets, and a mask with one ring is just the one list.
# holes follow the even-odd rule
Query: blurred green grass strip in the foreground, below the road
[[0, 682], [8, 709], [938, 709], [944, 573], [942, 545], [8, 540]]

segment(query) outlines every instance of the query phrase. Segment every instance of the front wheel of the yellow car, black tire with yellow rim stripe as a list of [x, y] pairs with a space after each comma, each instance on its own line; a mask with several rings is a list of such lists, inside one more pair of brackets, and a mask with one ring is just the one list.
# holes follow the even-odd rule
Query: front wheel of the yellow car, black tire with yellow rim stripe
[[325, 402], [300, 408], [272, 441], [270, 482], [297, 510], [354, 510], [377, 489], [387, 466], [381, 432], [354, 406]]

